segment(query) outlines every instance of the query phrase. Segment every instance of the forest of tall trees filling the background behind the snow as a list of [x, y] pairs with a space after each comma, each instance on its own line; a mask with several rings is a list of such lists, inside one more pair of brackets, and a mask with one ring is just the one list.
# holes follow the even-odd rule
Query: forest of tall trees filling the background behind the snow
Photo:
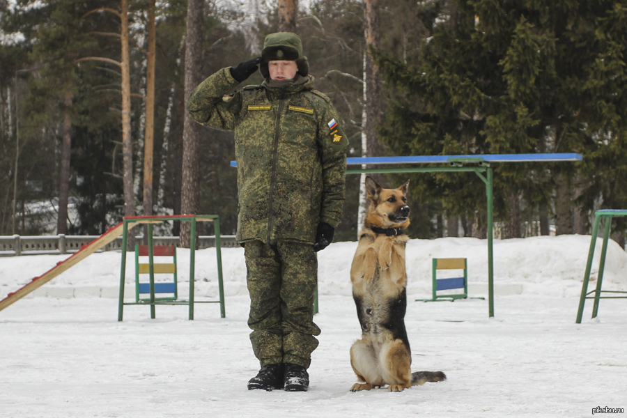
[[[233, 135], [186, 124], [185, 99], [286, 29], [349, 157], [581, 153], [494, 165], [500, 238], [589, 233], [594, 210], [627, 208], [624, 0], [0, 0], [0, 235], [98, 235], [124, 215], [182, 212], [235, 233]], [[380, 180], [408, 177], [412, 238], [485, 238], [481, 179]], [[346, 178], [336, 240], [357, 237], [360, 181]]]

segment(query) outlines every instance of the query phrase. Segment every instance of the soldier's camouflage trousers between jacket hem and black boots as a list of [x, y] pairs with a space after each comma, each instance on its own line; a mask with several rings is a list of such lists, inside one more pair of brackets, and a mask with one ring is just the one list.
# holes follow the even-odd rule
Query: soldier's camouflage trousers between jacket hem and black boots
[[318, 260], [311, 244], [277, 241], [245, 245], [250, 294], [248, 326], [261, 366], [293, 363], [305, 368], [318, 346], [314, 294]]

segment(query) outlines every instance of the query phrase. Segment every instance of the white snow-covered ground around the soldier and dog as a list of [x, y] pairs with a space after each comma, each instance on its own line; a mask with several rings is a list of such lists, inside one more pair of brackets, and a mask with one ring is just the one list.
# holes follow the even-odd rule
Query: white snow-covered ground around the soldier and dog
[[[127, 306], [117, 321], [120, 253], [93, 254], [0, 311], [0, 417], [591, 417], [627, 407], [627, 300], [586, 303], [575, 324], [590, 244], [586, 235], [495, 240], [495, 317], [488, 318], [485, 240], [408, 244], [412, 369], [448, 380], [351, 393], [348, 350], [359, 338], [350, 297], [355, 242], [319, 253], [323, 330], [309, 392], [251, 391], [256, 374], [246, 324], [242, 249], [222, 249], [226, 318], [218, 304]], [[598, 240], [590, 290], [598, 274]], [[189, 253], [180, 249], [185, 295]], [[486, 300], [415, 302], [431, 295], [431, 258], [467, 257], [469, 295]], [[0, 295], [67, 256], [0, 258]], [[128, 258], [127, 295], [132, 296]], [[627, 291], [627, 254], [611, 242], [604, 290]], [[196, 296], [217, 295], [215, 249], [196, 253]], [[624, 416], [594, 414], [595, 416]]]

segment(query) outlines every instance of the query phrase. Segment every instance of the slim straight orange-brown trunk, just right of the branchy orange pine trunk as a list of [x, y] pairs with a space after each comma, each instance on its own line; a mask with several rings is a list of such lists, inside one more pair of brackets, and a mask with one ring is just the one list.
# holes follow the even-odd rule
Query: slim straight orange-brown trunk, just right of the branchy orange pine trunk
[[153, 215], [153, 144], [155, 130], [155, 0], [148, 5], [146, 56], [146, 134], [144, 138], [144, 215]]

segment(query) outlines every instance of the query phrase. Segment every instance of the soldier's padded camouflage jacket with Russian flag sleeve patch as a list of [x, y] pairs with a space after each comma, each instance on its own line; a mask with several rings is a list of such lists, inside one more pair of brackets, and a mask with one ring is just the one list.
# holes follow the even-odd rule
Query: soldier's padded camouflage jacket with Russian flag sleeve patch
[[198, 123], [235, 132], [240, 242], [313, 243], [318, 222], [339, 222], [348, 139], [330, 99], [307, 78], [226, 95], [238, 82], [223, 68], [189, 96], [187, 111]]

